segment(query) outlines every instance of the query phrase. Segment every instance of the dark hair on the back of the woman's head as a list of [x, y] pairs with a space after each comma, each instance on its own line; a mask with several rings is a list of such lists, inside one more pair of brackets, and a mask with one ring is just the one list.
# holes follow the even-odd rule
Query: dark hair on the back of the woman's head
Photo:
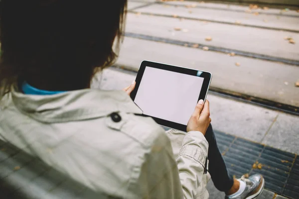
[[2, 89], [17, 81], [48, 90], [89, 87], [117, 58], [126, 9], [127, 0], [1, 0]]

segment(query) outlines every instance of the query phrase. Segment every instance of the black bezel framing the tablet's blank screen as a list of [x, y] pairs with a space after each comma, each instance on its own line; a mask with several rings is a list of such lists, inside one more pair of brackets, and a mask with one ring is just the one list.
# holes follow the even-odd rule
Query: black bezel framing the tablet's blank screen
[[[209, 90], [209, 86], [211, 83], [211, 79], [212, 79], [212, 74], [206, 71], [199, 71], [199, 70], [195, 70], [195, 69], [189, 69], [189, 68], [183, 68], [180, 66], [174, 66], [174, 65], [168, 65], [168, 64], [162, 64], [162, 63], [156, 63], [156, 62], [151, 62], [151, 61], [143, 61], [141, 63], [141, 66], [139, 68], [139, 71], [137, 73], [137, 77], [136, 77], [136, 86], [135, 89], [131, 92], [131, 99], [134, 101], [135, 97], [137, 95], [137, 91], [139, 89], [143, 74], [145, 72], [146, 67], [152, 67], [152, 68], [156, 68], [156, 69], [162, 69], [162, 70], [166, 70], [166, 71], [172, 71], [172, 72], [177, 72], [177, 73], [182, 73], [182, 74], [187, 74], [187, 75], [192, 75], [192, 76], [196, 76], [196, 77], [202, 77], [203, 80], [203, 84], [201, 87], [201, 91], [198, 97], [198, 100], [205, 100], [208, 90]], [[199, 74], [200, 73], [200, 74]], [[194, 108], [195, 108], [194, 104]], [[150, 115], [146, 115], [145, 116], [150, 116]], [[191, 116], [191, 115], [190, 115]], [[181, 131], [186, 131], [187, 126], [184, 124], [180, 124], [180, 123], [176, 123], [176, 122], [172, 122], [172, 121], [168, 121], [165, 119], [160, 119], [157, 117], [152, 117], [158, 124], [169, 127], [169, 128], [174, 128], [177, 130], [181, 130]]]

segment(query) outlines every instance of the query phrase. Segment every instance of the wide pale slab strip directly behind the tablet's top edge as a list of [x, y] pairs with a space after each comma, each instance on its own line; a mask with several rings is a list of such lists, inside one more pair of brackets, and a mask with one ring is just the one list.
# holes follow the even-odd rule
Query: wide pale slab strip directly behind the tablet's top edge
[[299, 106], [297, 66], [126, 37], [117, 63], [138, 70], [143, 60], [209, 71], [212, 87]]

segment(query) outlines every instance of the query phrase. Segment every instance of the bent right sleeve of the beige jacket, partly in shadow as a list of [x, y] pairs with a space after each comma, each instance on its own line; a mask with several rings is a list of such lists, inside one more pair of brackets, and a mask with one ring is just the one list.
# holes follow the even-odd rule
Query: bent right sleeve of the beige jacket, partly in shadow
[[142, 167], [140, 180], [147, 188], [142, 198], [193, 199], [204, 175], [208, 143], [198, 131], [186, 133], [178, 157], [174, 158], [164, 131], [154, 140]]

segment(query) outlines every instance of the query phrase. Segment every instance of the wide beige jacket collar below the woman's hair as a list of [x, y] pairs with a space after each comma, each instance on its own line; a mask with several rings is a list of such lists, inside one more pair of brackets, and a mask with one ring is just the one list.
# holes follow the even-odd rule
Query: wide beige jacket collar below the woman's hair
[[37, 96], [24, 95], [13, 88], [11, 98], [22, 113], [46, 123], [92, 119], [112, 112], [143, 113], [123, 91], [84, 89]]

